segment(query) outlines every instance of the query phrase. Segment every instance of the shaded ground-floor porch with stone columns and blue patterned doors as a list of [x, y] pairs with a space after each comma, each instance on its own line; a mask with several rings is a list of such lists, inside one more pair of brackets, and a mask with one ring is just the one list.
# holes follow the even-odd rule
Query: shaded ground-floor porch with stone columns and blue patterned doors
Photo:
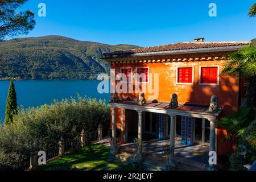
[[[113, 157], [133, 159], [135, 148], [133, 147], [133, 140], [130, 140], [130, 138], [135, 137], [140, 141], [137, 150], [137, 161], [143, 166], [148, 166], [147, 168], [158, 166], [158, 168], [164, 169], [168, 166], [176, 169], [177, 164], [193, 163], [193, 165], [196, 164], [197, 169], [201, 170], [204, 169], [204, 164], [208, 163], [209, 151], [216, 152], [216, 120], [218, 114], [221, 113], [221, 108], [218, 111], [211, 112], [208, 110], [209, 106], [184, 104], [174, 109], [169, 108], [165, 102], [152, 103], [150, 101], [143, 105], [138, 105], [138, 101], [117, 101], [110, 102], [110, 104], [112, 105], [112, 146], [110, 147], [110, 155]], [[117, 114], [115, 114], [116, 108], [119, 109]], [[156, 113], [156, 119], [149, 119], [152, 118], [151, 116], [146, 119], [146, 113]], [[175, 123], [178, 116], [181, 116], [181, 142], [176, 140]], [[115, 128], [118, 126], [116, 125], [116, 118], [120, 119], [121, 143], [126, 144], [115, 143]], [[209, 121], [209, 146], [194, 142], [196, 135], [193, 131], [195, 129], [193, 125], [196, 123], [196, 118], [201, 118], [203, 123], [205, 123], [205, 119]], [[157, 122], [152, 124], [152, 121]], [[158, 138], [147, 142], [144, 129], [148, 122], [151, 122], [149, 133], [158, 136]], [[155, 132], [153, 132], [152, 126], [156, 127]], [[131, 137], [132, 135], [134, 137]], [[170, 139], [166, 140], [167, 138]], [[171, 150], [168, 162], [167, 156], [162, 154], [165, 144], [168, 144]], [[210, 165], [213, 168], [213, 164]]]

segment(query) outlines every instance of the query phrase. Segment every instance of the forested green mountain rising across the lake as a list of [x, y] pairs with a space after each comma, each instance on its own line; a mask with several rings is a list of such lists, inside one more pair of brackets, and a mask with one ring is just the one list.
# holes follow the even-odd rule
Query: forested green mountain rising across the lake
[[79, 41], [64, 36], [19, 38], [0, 42], [0, 79], [88, 79], [109, 73], [102, 53], [139, 48]]

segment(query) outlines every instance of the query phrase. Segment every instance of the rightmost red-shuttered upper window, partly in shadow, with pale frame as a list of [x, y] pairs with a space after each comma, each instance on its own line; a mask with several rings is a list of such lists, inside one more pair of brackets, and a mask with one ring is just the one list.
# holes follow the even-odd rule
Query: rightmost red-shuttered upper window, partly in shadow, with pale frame
[[201, 67], [200, 84], [218, 84], [218, 67]]

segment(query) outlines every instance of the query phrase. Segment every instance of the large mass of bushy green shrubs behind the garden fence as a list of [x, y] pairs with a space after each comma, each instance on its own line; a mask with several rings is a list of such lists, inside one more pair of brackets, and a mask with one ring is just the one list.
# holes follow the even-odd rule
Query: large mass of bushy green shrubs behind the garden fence
[[2, 163], [55, 145], [60, 137], [75, 138], [82, 129], [95, 131], [99, 123], [110, 128], [110, 107], [103, 100], [78, 96], [21, 109], [13, 123], [0, 126], [0, 169]]

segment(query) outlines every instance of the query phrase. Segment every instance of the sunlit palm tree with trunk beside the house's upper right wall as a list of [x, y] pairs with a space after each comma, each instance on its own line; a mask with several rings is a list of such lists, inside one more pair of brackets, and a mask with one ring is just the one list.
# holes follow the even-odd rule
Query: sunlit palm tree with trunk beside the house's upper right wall
[[254, 89], [256, 76], [256, 48], [253, 44], [242, 47], [237, 52], [230, 53], [228, 61], [221, 71], [221, 76], [229, 75], [240, 79], [245, 78], [245, 97], [247, 107], [254, 105]]

